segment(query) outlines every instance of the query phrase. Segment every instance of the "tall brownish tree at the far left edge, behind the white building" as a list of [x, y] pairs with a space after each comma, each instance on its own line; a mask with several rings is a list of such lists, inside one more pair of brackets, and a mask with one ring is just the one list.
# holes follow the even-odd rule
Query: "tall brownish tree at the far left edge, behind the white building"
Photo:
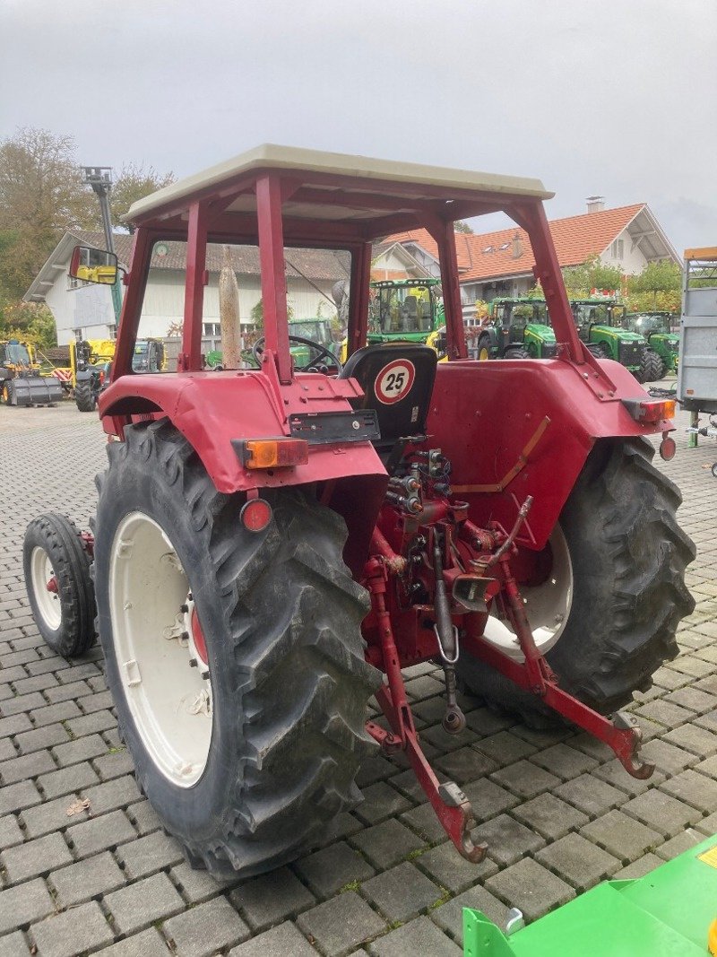
[[0, 300], [25, 293], [66, 230], [96, 224], [94, 204], [72, 137], [26, 128], [0, 144]]

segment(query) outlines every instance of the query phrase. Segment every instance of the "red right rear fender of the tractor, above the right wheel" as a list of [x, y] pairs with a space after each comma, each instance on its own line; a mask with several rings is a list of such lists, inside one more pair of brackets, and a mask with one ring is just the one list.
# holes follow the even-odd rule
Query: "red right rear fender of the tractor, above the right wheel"
[[[469, 503], [479, 526], [493, 520], [510, 528], [532, 495], [525, 544], [542, 548], [597, 439], [674, 428], [668, 420], [639, 424], [622, 398], [649, 396], [610, 360], [580, 366], [560, 359], [440, 363], [428, 417], [430, 444], [450, 459], [454, 495]], [[539, 434], [546, 416], [550, 424]], [[500, 484], [536, 434], [527, 462], [503, 490], [461, 489]]]

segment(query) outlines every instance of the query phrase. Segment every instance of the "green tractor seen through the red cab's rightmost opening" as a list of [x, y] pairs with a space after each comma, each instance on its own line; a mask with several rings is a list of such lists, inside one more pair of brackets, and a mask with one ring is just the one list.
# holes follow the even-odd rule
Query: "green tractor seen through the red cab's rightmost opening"
[[477, 359], [553, 359], [557, 355], [545, 300], [494, 299], [490, 323], [478, 337]]

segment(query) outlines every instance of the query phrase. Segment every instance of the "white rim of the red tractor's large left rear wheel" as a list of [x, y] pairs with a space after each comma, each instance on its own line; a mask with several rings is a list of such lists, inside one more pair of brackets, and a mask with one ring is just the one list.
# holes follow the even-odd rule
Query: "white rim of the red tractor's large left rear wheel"
[[120, 522], [109, 591], [120, 681], [142, 743], [166, 778], [190, 788], [211, 745], [211, 680], [191, 638], [184, 568], [169, 536], [143, 512]]

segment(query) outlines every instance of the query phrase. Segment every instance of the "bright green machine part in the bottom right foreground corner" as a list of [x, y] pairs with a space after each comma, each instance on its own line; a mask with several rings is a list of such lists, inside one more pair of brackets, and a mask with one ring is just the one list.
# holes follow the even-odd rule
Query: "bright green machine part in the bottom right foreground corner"
[[507, 937], [463, 911], [464, 957], [717, 955], [717, 835], [637, 880], [608, 880]]

